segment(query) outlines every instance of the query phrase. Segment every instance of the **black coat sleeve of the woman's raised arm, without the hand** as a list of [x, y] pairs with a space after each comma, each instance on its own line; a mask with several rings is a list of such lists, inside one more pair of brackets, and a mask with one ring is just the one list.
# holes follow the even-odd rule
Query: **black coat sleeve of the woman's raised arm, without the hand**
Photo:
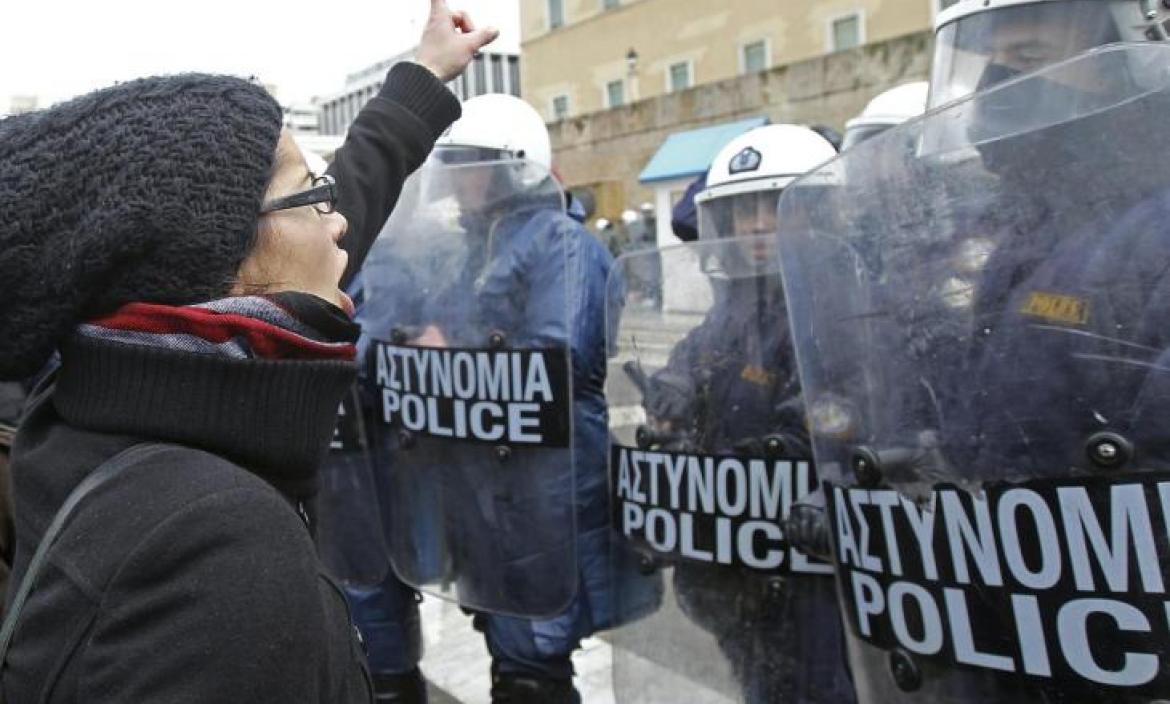
[[328, 172], [339, 188], [337, 210], [350, 222], [342, 240], [350, 255], [342, 288], [362, 268], [406, 178], [460, 112], [459, 101], [434, 74], [402, 62], [358, 113]]

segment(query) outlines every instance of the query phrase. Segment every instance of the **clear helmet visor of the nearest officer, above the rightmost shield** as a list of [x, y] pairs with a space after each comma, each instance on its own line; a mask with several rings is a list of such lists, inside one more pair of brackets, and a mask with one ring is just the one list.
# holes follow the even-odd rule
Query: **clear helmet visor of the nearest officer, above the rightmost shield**
[[1114, 5], [1032, 2], [977, 12], [943, 26], [935, 42], [930, 108], [1120, 41]]

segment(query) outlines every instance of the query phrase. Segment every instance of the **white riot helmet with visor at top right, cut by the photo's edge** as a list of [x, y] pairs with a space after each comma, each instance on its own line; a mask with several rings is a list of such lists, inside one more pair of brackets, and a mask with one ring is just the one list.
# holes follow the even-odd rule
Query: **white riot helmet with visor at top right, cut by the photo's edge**
[[1094, 47], [1168, 37], [1163, 0], [958, 0], [935, 20], [929, 106]]

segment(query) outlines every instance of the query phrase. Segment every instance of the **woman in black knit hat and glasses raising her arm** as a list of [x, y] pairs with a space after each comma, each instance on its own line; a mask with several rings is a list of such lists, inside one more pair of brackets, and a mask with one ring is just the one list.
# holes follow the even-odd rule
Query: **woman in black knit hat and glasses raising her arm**
[[355, 377], [338, 284], [494, 36], [433, 0], [330, 174], [227, 76], [0, 122], [0, 379], [60, 352], [12, 454], [5, 702], [373, 700], [307, 527]]

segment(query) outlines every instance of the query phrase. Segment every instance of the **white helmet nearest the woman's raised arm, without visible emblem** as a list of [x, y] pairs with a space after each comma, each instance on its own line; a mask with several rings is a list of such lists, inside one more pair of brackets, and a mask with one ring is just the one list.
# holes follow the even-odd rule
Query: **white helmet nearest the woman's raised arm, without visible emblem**
[[463, 103], [463, 116], [439, 138], [436, 149], [461, 161], [525, 159], [552, 167], [544, 118], [524, 101], [488, 94]]

